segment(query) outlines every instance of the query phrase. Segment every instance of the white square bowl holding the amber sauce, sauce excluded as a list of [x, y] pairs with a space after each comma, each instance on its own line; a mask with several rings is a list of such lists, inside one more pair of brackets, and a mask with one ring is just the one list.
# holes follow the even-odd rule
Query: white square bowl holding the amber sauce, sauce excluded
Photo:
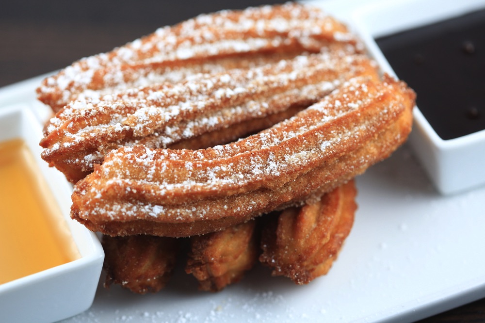
[[[72, 186], [40, 158], [42, 129], [27, 107], [0, 108], [0, 141], [20, 138], [29, 146], [58, 203], [80, 258], [0, 284], [0, 322], [55, 322], [91, 307], [104, 260], [95, 233], [69, 217]], [[2, 261], [2, 259], [0, 259]]]

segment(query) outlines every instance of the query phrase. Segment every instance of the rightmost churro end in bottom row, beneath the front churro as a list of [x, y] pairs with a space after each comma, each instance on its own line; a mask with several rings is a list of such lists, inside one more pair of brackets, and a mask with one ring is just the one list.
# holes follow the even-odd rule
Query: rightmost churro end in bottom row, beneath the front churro
[[259, 261], [299, 285], [325, 275], [354, 223], [355, 196], [350, 181], [314, 204], [283, 211], [263, 230]]

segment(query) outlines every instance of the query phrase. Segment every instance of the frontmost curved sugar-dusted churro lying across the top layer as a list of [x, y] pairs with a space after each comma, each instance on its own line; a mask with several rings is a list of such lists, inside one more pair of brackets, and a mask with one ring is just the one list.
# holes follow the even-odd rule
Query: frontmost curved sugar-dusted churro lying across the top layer
[[220, 230], [329, 192], [387, 158], [411, 130], [404, 83], [353, 79], [322, 102], [236, 143], [120, 148], [81, 180], [71, 215], [110, 235]]

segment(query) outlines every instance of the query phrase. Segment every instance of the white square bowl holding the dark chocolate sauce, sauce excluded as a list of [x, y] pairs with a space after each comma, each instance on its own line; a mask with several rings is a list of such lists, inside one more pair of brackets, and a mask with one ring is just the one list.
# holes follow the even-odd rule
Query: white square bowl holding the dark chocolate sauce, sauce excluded
[[[374, 39], [484, 9], [485, 1], [382, 0], [358, 7], [348, 17], [349, 22], [381, 69], [396, 76]], [[485, 184], [485, 130], [443, 140], [416, 107], [409, 142], [441, 194], [456, 194]]]

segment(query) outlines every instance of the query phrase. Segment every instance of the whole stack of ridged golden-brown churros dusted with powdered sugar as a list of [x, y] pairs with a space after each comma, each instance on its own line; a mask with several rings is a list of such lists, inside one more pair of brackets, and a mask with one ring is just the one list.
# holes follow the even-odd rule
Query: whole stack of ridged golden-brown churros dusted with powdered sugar
[[55, 112], [42, 158], [75, 184], [72, 218], [105, 235], [107, 283], [137, 293], [162, 289], [182, 241], [202, 290], [258, 259], [297, 284], [326, 274], [353, 178], [406, 140], [415, 99], [297, 3], [161, 28], [37, 92]]

